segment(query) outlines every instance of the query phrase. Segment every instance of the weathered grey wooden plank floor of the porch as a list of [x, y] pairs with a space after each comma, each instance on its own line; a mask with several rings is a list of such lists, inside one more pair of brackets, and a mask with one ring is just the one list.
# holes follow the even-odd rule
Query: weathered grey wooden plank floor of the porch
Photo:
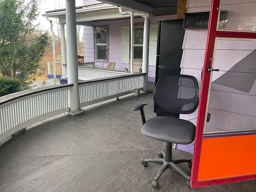
[[[145, 102], [146, 119], [155, 116], [152, 95], [130, 94], [30, 126], [0, 146], [0, 192], [256, 191], [256, 180], [189, 189], [173, 170], [162, 175], [158, 189], [152, 188], [160, 166], [144, 168], [140, 159], [157, 158], [165, 144], [143, 136], [140, 112], [132, 111]], [[174, 150], [173, 156], [192, 155]], [[179, 165], [190, 174], [186, 163]]]

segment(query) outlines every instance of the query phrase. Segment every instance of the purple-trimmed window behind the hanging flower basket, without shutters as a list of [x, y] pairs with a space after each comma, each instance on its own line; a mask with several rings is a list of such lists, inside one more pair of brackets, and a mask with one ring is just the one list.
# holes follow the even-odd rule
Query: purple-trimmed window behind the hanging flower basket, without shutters
[[107, 37], [108, 37], [108, 30], [106, 27], [102, 27], [106, 29], [106, 32], [100, 36], [100, 38], [95, 38], [96, 40], [96, 60], [108, 60], [107, 54]]

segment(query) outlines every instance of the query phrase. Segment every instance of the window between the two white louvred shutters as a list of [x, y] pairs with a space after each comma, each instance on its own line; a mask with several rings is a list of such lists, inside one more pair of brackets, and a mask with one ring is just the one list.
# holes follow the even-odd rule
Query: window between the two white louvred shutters
[[143, 27], [134, 27], [134, 58], [142, 58]]

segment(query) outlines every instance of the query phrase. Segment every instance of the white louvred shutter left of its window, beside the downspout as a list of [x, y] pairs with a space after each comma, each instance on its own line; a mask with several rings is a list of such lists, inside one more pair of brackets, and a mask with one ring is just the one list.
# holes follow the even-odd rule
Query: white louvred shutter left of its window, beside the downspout
[[122, 63], [129, 63], [130, 26], [122, 26]]

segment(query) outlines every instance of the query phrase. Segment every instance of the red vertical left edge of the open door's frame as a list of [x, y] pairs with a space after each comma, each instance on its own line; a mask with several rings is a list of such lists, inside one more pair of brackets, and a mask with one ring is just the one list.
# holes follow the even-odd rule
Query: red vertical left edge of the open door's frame
[[209, 17], [209, 25], [208, 25], [208, 35], [206, 41], [206, 51], [204, 55], [204, 67], [203, 67], [203, 76], [202, 76], [202, 85], [200, 92], [200, 100], [198, 106], [198, 120], [196, 124], [196, 138], [195, 138], [195, 147], [194, 147], [194, 156], [192, 163], [192, 172], [191, 172], [191, 186], [204, 186], [198, 183], [198, 168], [199, 168], [199, 160], [200, 160], [200, 152], [202, 145], [202, 136], [204, 132], [204, 120], [206, 115], [206, 104], [208, 98], [208, 90], [209, 90], [209, 82], [210, 82], [210, 73], [206, 73], [207, 66], [212, 66], [212, 61], [210, 58], [213, 57], [214, 52], [214, 44], [216, 37], [216, 29], [218, 22], [218, 10], [220, 7], [220, 0], [212, 0], [211, 11]]

